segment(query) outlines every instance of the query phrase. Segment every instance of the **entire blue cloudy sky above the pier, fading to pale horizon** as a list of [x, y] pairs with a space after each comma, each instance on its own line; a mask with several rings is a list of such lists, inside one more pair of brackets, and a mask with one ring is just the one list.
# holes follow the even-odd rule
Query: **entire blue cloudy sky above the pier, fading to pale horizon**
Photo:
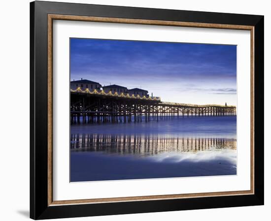
[[142, 88], [165, 102], [237, 105], [237, 46], [70, 39], [70, 80]]

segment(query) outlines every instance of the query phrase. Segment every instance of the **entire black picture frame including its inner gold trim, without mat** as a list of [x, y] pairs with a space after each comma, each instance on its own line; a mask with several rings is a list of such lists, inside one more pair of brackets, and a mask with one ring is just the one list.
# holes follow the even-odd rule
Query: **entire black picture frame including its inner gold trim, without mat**
[[[53, 200], [53, 21], [249, 30], [249, 191]], [[30, 217], [34, 220], [264, 204], [264, 16], [34, 1], [30, 3]]]

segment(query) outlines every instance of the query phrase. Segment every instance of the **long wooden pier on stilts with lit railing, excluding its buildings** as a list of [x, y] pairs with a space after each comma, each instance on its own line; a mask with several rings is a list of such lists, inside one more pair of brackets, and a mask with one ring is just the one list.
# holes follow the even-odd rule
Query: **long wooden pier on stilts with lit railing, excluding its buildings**
[[236, 115], [235, 106], [162, 102], [159, 97], [131, 96], [80, 88], [70, 90], [70, 123], [141, 122], [173, 117]]

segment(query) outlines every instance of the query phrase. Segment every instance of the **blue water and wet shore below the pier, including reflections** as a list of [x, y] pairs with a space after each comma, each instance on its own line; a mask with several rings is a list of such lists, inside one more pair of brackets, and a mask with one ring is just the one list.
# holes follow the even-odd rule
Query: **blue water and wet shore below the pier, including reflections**
[[70, 127], [71, 182], [236, 174], [236, 116]]

